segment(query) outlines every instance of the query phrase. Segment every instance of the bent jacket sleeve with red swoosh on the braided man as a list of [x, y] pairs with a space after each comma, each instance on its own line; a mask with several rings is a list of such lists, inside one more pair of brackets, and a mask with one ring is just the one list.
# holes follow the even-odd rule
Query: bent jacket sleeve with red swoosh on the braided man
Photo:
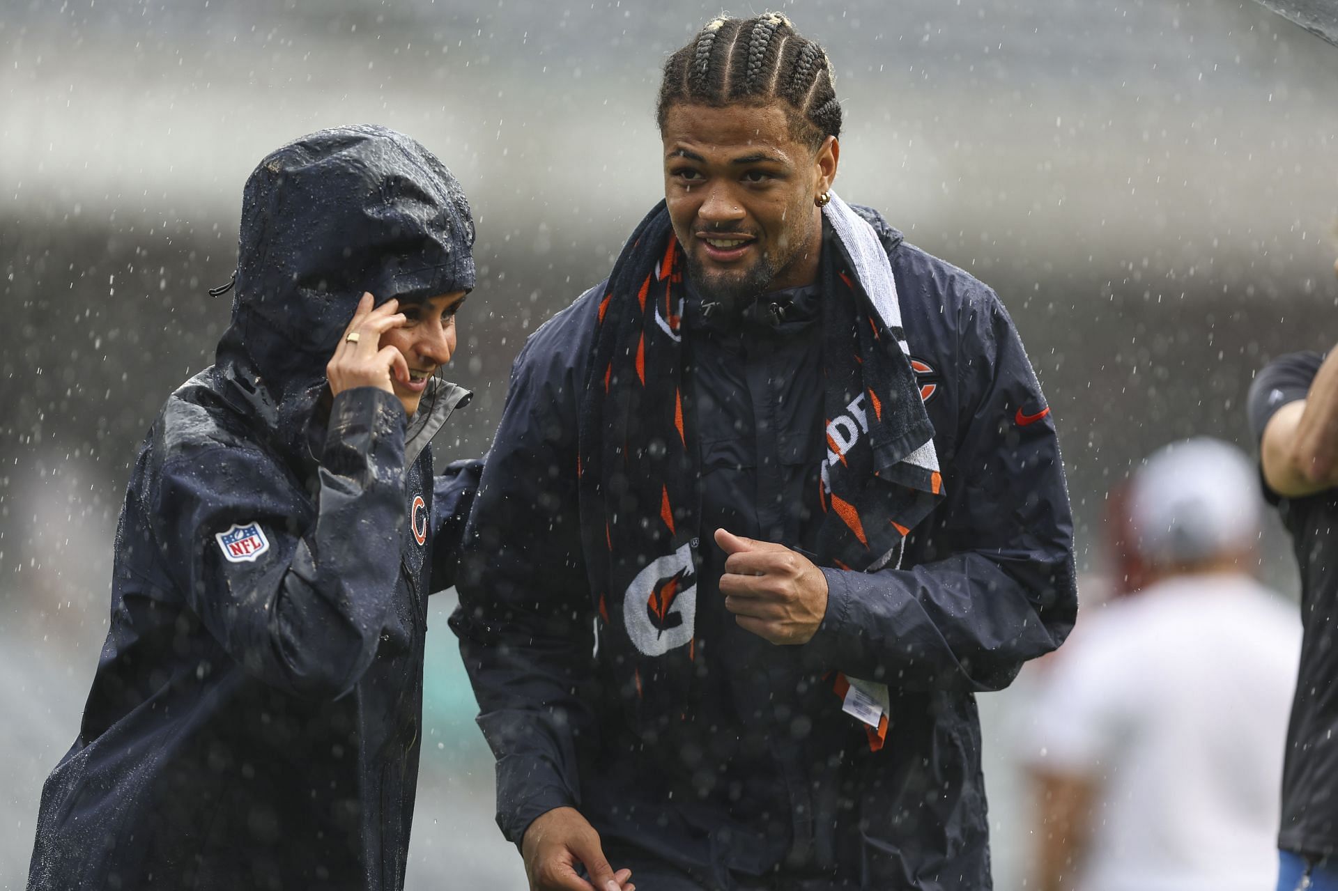
[[903, 689], [995, 690], [1073, 627], [1073, 519], [1054, 419], [1012, 320], [982, 290], [962, 310], [954, 452], [939, 443], [945, 499], [907, 542], [921, 561], [823, 569], [827, 614], [805, 645], [823, 668]]

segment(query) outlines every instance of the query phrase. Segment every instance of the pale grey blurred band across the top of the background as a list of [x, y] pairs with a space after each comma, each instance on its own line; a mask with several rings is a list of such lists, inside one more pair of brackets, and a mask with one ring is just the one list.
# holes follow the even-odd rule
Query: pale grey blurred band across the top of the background
[[[970, 227], [1056, 262], [1113, 245], [1202, 264], [1318, 245], [1334, 222], [1338, 52], [1252, 3], [784, 9], [839, 72], [839, 189], [909, 230]], [[611, 252], [657, 197], [658, 67], [717, 11], [8, 1], [0, 194], [52, 214], [231, 222], [268, 150], [376, 120], [438, 151], [484, 226], [504, 223], [494, 237], [562, 249], [609, 233]]]

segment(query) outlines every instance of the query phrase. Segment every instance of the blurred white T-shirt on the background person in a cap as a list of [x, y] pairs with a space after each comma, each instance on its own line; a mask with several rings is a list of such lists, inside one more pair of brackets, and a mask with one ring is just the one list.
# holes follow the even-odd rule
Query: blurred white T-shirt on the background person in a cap
[[1038, 692], [1030, 765], [1098, 792], [1078, 891], [1258, 891], [1278, 870], [1295, 607], [1180, 575], [1082, 617]]

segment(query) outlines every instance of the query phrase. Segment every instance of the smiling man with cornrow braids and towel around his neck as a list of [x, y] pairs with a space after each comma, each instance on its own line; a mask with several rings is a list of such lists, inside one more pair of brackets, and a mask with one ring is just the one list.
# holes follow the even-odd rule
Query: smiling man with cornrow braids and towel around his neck
[[674, 52], [658, 124], [665, 201], [520, 352], [466, 532], [498, 823], [535, 890], [989, 888], [974, 696], [1076, 610], [1022, 344], [832, 191], [784, 16]]

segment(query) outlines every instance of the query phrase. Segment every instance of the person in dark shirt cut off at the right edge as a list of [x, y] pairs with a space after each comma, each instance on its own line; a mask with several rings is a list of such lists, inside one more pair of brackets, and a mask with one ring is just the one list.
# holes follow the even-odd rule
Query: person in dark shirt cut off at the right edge
[[1338, 890], [1338, 349], [1275, 359], [1255, 377], [1248, 411], [1264, 498], [1295, 547], [1305, 627], [1282, 779], [1278, 888]]

